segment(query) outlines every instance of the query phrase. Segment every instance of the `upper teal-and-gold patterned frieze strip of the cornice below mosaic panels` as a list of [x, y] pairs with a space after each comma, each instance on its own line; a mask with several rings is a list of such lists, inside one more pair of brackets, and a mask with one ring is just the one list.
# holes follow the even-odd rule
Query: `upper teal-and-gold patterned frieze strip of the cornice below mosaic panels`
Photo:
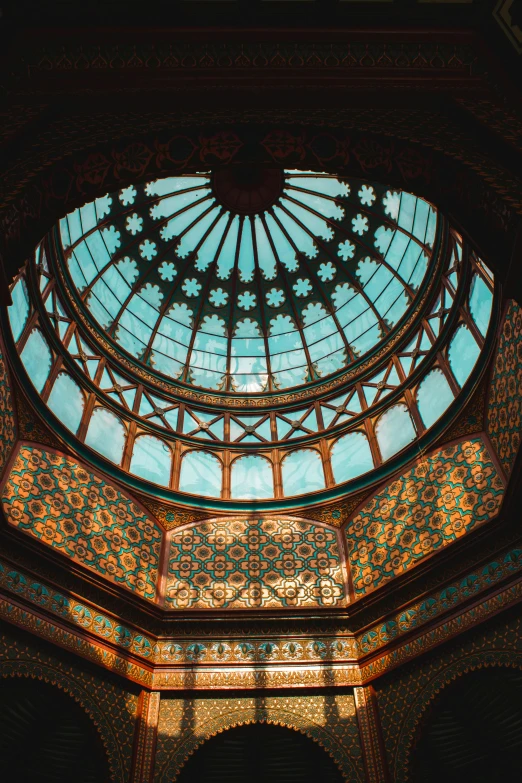
[[[448, 611], [461, 611], [466, 602], [476, 601], [479, 596], [483, 596], [506, 579], [518, 579], [521, 572], [522, 549], [511, 548], [440, 590], [389, 614], [356, 637], [343, 631], [330, 637], [293, 635], [291, 641], [277, 633], [270, 636], [266, 633], [249, 633], [248, 642], [245, 642], [244, 635], [224, 635], [214, 637], [212, 641], [200, 640], [197, 643], [181, 636], [159, 639], [126, 625], [88, 601], [80, 601], [66, 591], [56, 590], [50, 584], [31, 577], [28, 572], [13, 568], [1, 559], [0, 591], [14, 595], [18, 602], [27, 603], [30, 609], [43, 609], [47, 612], [52, 620], [52, 623], [47, 624], [47, 629], [50, 629], [47, 638], [59, 640], [63, 646], [67, 646], [63, 630], [54, 626], [55, 620], [62, 626], [66, 623], [73, 631], [87, 631], [91, 640], [108, 643], [119, 653], [128, 651], [143, 663], [167, 666], [188, 663], [194, 667], [209, 663], [229, 666], [230, 663], [247, 661], [252, 664], [261, 663], [266, 667], [288, 661], [317, 664], [361, 660], [367, 655], [382, 651], [392, 642], [400, 641], [405, 634], [411, 635], [412, 632], [425, 630], [430, 621], [440, 619]], [[498, 603], [498, 599], [495, 601]], [[484, 614], [480, 605], [479, 609], [475, 606], [473, 611], [478, 622]], [[458, 622], [463, 625], [461, 619]], [[33, 632], [36, 632], [32, 626], [24, 627], [31, 627]], [[40, 623], [39, 630], [42, 631], [43, 627]], [[438, 634], [440, 636], [440, 628]], [[74, 646], [78, 652], [78, 642], [75, 642]], [[107, 653], [104, 654], [104, 659], [107, 659]], [[400, 663], [398, 658], [397, 663]], [[114, 661], [111, 661], [111, 668], [120, 671]], [[134, 671], [131, 671], [133, 669]], [[148, 679], [144, 680], [147, 672], [141, 669], [138, 671], [135, 665], [124, 664], [120, 673], [150, 685]]]

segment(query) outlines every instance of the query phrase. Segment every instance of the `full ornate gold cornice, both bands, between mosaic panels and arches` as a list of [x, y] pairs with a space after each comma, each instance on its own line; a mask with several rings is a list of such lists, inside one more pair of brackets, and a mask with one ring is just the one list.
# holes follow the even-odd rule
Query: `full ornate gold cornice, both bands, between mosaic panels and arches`
[[518, 603], [521, 573], [515, 548], [358, 635], [165, 638], [0, 562], [0, 616], [156, 690], [364, 685]]

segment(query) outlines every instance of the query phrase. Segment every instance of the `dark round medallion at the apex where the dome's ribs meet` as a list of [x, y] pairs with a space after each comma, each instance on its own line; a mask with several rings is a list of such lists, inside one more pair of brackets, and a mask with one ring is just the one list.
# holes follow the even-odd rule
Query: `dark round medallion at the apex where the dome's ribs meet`
[[238, 215], [255, 215], [278, 201], [284, 186], [281, 169], [242, 165], [218, 169], [212, 178], [216, 200]]

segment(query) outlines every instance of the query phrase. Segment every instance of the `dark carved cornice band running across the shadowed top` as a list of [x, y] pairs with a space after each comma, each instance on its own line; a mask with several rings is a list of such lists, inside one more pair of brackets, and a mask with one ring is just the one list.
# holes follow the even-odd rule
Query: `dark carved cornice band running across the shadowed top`
[[[207, 37], [201, 42], [190, 40], [187, 33], [182, 39], [174, 31], [168, 40], [156, 32], [153, 36], [134, 35], [133, 40], [129, 36], [125, 40], [120, 34], [115, 36], [119, 40], [108, 41], [97, 33], [70, 32], [66, 39], [49, 33], [44, 42], [39, 40], [33, 46], [28, 43], [23, 56], [13, 57], [5, 86], [18, 94], [27, 94], [41, 90], [43, 77], [48, 91], [62, 91], [75, 72], [83, 77], [80, 82], [85, 85], [83, 89], [100, 78], [107, 80], [113, 76], [118, 79], [120, 90], [134, 92], [141, 84], [136, 84], [135, 79], [125, 81], [122, 75], [146, 73], [149, 88], [150, 80], [154, 86], [154, 75], [158, 75], [162, 80], [159, 86], [165, 89], [165, 78], [169, 75], [205, 73], [209, 76], [213, 71], [219, 71], [221, 79], [245, 72], [251, 76], [262, 74], [263, 78], [281, 72], [322, 76], [375, 72], [381, 80], [390, 77], [404, 80], [411, 74], [415, 81], [421, 81], [426, 73], [444, 72], [446, 82], [458, 77], [471, 80], [484, 72], [476, 41], [469, 34], [456, 37], [440, 31], [431, 35], [388, 32], [385, 37], [376, 37], [371, 32], [362, 35], [352, 32], [347, 37], [349, 40], [339, 41], [326, 33], [323, 41], [249, 41], [248, 36], [243, 36], [238, 41], [229, 35], [228, 40], [221, 36], [220, 41], [212, 41]], [[49, 78], [57, 74], [68, 77], [65, 85]]]

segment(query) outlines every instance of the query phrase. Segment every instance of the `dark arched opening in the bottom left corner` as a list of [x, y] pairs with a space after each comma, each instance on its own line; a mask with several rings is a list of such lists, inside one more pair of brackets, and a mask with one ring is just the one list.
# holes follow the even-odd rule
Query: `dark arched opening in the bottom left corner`
[[28, 678], [0, 680], [0, 759], [17, 783], [108, 783], [101, 738], [69, 694]]

